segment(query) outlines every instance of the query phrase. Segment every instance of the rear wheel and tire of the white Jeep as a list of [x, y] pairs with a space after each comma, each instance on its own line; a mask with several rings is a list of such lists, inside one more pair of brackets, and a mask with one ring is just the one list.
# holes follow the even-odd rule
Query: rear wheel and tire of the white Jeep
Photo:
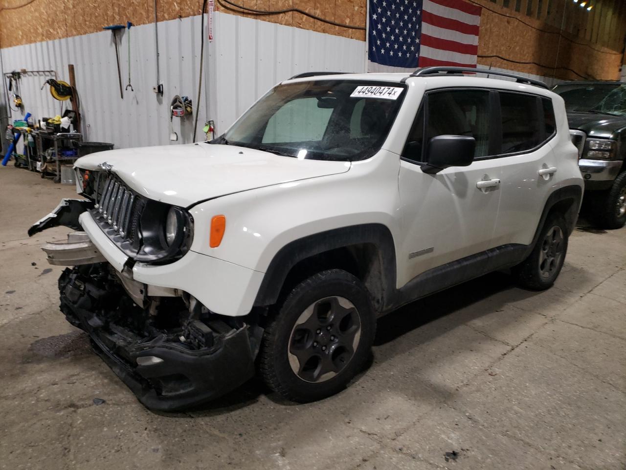
[[512, 269], [522, 287], [535, 291], [552, 287], [563, 268], [568, 233], [563, 216], [548, 215], [533, 251], [528, 258]]

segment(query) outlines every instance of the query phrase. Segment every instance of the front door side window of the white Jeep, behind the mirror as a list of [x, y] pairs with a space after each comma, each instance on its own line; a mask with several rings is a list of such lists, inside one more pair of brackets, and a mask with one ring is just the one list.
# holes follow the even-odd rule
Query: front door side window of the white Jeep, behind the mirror
[[446, 90], [429, 93], [426, 140], [437, 135], [476, 139], [474, 158], [489, 155], [489, 91]]

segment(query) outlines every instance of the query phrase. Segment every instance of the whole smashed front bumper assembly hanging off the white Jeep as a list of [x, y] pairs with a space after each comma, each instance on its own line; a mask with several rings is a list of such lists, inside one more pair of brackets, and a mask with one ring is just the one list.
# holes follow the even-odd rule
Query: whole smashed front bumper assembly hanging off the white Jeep
[[63, 199], [28, 233], [85, 229], [42, 246], [50, 264], [73, 266], [59, 278], [61, 311], [90, 335], [96, 353], [138, 400], [154, 410], [181, 410], [250, 379], [249, 326], [215, 315], [183, 290], [137, 281], [128, 258], [105, 249], [111, 242], [88, 217], [90, 207], [90, 201]]

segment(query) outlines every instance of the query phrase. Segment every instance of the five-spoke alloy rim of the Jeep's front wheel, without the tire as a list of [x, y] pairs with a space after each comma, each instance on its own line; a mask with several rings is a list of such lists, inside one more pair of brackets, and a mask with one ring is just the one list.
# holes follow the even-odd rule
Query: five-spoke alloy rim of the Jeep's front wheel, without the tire
[[289, 365], [305, 382], [326, 382], [346, 367], [361, 339], [361, 317], [354, 304], [332, 296], [310, 305], [289, 337]]

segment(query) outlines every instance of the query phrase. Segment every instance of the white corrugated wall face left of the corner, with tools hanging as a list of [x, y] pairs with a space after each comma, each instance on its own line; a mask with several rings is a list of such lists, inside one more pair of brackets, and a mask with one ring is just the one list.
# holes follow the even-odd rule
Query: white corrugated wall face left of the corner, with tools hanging
[[[120, 33], [118, 33], [120, 34]], [[122, 83], [128, 83], [129, 31], [120, 40]], [[110, 31], [73, 38], [27, 44], [2, 51], [4, 72], [12, 70], [56, 70], [60, 79], [69, 81], [68, 64], [74, 64], [76, 86], [83, 115], [86, 140], [113, 142], [117, 148], [167, 144], [169, 141], [169, 105], [173, 95], [197, 99], [200, 66], [200, 17], [165, 21], [159, 24], [161, 77], [164, 96], [152, 92], [156, 85], [154, 26], [130, 29], [131, 83], [120, 98], [115, 47]], [[24, 110], [34, 117], [59, 114], [61, 103], [49, 95], [48, 86], [39, 90], [45, 77], [24, 76], [20, 94]], [[203, 98], [198, 127], [206, 116]], [[17, 114], [13, 112], [13, 117]], [[193, 133], [191, 118], [174, 122], [180, 136], [178, 142], [190, 142]], [[182, 127], [181, 127], [182, 126]], [[200, 135], [202, 137], [202, 135]]]

